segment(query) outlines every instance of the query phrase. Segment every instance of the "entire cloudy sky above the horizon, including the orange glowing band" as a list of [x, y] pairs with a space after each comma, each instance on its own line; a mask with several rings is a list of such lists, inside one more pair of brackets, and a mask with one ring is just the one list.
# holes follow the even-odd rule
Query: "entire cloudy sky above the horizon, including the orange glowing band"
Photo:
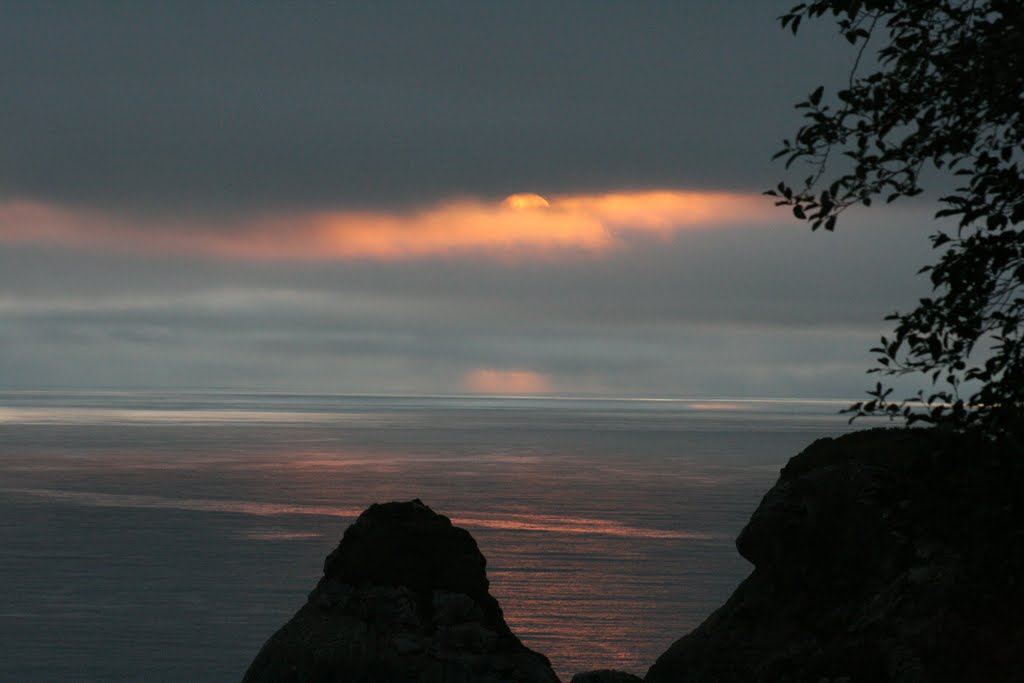
[[857, 398], [932, 209], [761, 195], [790, 4], [0, 3], [0, 388]]

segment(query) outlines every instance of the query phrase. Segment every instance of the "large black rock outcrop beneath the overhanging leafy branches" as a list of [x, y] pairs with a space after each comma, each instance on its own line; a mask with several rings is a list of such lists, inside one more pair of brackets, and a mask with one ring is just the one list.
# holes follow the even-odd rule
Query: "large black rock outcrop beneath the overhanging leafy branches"
[[755, 569], [649, 683], [1024, 681], [1024, 453], [820, 439], [740, 533]]

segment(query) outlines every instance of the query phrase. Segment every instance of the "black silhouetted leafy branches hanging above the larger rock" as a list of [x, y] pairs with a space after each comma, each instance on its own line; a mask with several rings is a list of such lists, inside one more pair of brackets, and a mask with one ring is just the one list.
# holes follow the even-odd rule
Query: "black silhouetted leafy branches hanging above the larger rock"
[[[926, 168], [959, 179], [936, 218], [954, 228], [931, 237], [922, 268], [933, 295], [896, 312], [883, 337], [883, 376], [921, 374], [930, 391], [896, 400], [879, 382], [851, 421], [887, 415], [1018, 432], [1024, 412], [1024, 3], [1020, 0], [820, 0], [779, 17], [796, 34], [805, 19], [835, 17], [856, 49], [834, 97], [817, 87], [799, 104], [804, 122], [776, 155], [812, 173], [767, 194], [812, 229], [831, 230], [854, 205], [923, 191]], [[872, 40], [882, 39], [881, 45]], [[860, 73], [867, 58], [876, 65]], [[831, 171], [839, 164], [843, 170]]]

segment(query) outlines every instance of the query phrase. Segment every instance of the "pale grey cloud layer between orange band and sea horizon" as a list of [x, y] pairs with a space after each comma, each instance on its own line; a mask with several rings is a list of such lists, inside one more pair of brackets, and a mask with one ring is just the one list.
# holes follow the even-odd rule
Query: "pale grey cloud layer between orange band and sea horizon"
[[8, 244], [0, 371], [20, 387], [857, 395], [882, 317], [927, 294], [926, 230], [925, 212], [863, 212], [837, 233], [686, 229], [597, 259]]

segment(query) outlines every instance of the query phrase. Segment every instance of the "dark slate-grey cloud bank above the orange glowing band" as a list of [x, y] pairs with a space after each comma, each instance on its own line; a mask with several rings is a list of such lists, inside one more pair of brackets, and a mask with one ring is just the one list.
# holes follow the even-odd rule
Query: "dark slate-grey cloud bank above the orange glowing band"
[[781, 9], [7, 5], [0, 191], [181, 212], [761, 188], [792, 103], [849, 58]]

